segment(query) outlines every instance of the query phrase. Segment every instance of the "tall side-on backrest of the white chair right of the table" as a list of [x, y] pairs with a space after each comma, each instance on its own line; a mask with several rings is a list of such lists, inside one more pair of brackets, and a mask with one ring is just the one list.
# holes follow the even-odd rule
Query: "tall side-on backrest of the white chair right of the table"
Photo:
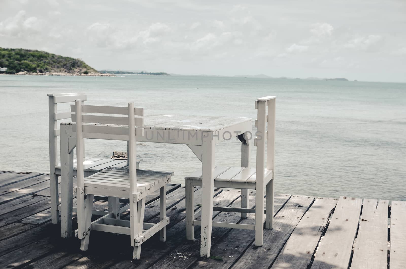
[[[264, 163], [266, 140], [268, 140], [266, 149], [266, 168], [272, 169], [272, 178], [274, 174], [275, 101], [275, 96], [266, 96], [255, 101], [255, 108], [257, 109], [257, 119], [255, 120], [257, 138], [254, 140], [254, 145], [257, 147], [257, 181], [261, 179], [263, 181], [263, 177], [265, 176]], [[268, 131], [266, 130], [267, 127]], [[262, 175], [262, 177], [259, 175]]]

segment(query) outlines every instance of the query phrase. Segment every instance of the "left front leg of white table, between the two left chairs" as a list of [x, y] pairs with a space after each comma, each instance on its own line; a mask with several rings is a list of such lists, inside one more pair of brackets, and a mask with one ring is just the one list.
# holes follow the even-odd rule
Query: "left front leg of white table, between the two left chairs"
[[[69, 145], [68, 125], [60, 128], [60, 202], [61, 202], [61, 236], [68, 238], [72, 231], [73, 200], [73, 150]], [[70, 150], [70, 152], [69, 152]]]

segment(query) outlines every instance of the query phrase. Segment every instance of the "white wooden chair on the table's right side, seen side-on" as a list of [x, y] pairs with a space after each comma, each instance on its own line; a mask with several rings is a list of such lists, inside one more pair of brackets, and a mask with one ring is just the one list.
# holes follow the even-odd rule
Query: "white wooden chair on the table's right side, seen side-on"
[[[257, 137], [254, 145], [257, 147], [256, 168], [249, 167], [216, 167], [214, 170], [214, 187], [255, 189], [255, 209], [250, 208], [228, 208], [214, 206], [214, 211], [255, 213], [255, 224], [213, 222], [213, 227], [226, 227], [235, 229], [255, 230], [255, 245], [263, 245], [263, 215], [265, 228], [272, 229], [273, 226], [273, 200], [274, 200], [274, 144], [275, 144], [275, 99], [274, 96], [259, 98], [255, 101], [257, 108], [257, 119], [255, 126]], [[268, 106], [268, 109], [267, 109]], [[268, 115], [267, 115], [268, 112]], [[268, 125], [268, 131], [266, 126]], [[267, 145], [267, 160], [265, 163], [265, 141]], [[201, 225], [201, 221], [194, 216], [194, 186], [201, 186], [202, 170], [194, 172], [186, 179], [186, 238], [194, 239], [194, 225]], [[264, 204], [264, 188], [266, 187], [266, 208]], [[247, 198], [249, 200], [249, 197]], [[204, 203], [204, 200], [202, 201]]]

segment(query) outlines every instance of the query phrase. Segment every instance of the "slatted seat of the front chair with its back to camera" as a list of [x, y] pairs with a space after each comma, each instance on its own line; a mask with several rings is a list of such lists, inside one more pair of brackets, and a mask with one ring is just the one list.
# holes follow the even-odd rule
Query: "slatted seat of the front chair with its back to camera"
[[[148, 195], [171, 181], [173, 172], [137, 169], [137, 191]], [[130, 174], [127, 168], [107, 168], [84, 178], [85, 193], [129, 197]]]

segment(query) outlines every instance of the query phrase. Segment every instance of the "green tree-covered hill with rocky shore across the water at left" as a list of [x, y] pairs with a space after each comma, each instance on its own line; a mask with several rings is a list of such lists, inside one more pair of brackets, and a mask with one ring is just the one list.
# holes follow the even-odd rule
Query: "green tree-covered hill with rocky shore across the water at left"
[[0, 67], [7, 67], [7, 74], [60, 73], [60, 74], [100, 74], [80, 59], [60, 56], [39, 50], [0, 48]]

